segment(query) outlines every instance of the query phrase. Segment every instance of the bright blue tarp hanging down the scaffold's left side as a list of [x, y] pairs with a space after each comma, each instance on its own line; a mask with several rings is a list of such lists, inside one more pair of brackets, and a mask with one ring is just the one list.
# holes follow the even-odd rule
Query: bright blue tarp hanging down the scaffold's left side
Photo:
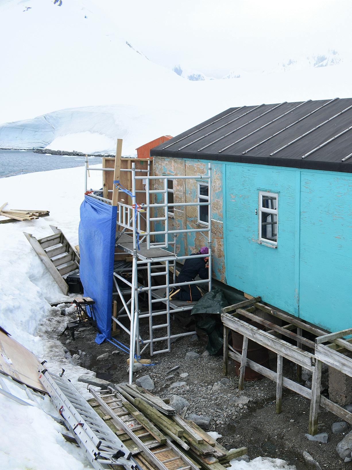
[[84, 196], [80, 208], [79, 273], [84, 296], [95, 301], [94, 313], [99, 329], [95, 341], [98, 344], [111, 335], [116, 211], [116, 206], [91, 196]]

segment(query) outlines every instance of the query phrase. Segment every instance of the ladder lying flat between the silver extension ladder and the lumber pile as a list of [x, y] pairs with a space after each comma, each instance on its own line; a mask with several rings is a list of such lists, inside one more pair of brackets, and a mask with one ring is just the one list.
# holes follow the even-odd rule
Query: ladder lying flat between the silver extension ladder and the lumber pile
[[[108, 390], [99, 390], [99, 392], [97, 392], [93, 389], [92, 385], [88, 386], [88, 390], [92, 393], [99, 405], [103, 407], [107, 415], [112, 417], [116, 426], [123, 430], [133, 440], [138, 451], [142, 452], [148, 460], [153, 462], [155, 469], [170, 470], [170, 466], [168, 465], [168, 463], [170, 463], [172, 468], [175, 470], [199, 470], [199, 467], [195, 465], [194, 462], [191, 461], [181, 450], [179, 450], [170, 439], [166, 439], [166, 443], [163, 445], [156, 440], [143, 442], [140, 438], [148, 435], [148, 432], [138, 435], [133, 431], [143, 429], [142, 425], [133, 426], [133, 428], [129, 427], [128, 424], [134, 422], [135, 418], [133, 418], [129, 411], [124, 408], [123, 402], [125, 399], [119, 392], [114, 390], [112, 387], [109, 387]], [[115, 400], [111, 400], [112, 397], [115, 397]], [[109, 400], [109, 403], [107, 403], [106, 399]], [[122, 413], [117, 415], [117, 410]], [[124, 420], [122, 420], [122, 416], [124, 417]], [[165, 459], [165, 457], [162, 457], [162, 454], [168, 451], [172, 453], [172, 456]], [[176, 468], [175, 463], [177, 460], [182, 461], [182, 464]]]

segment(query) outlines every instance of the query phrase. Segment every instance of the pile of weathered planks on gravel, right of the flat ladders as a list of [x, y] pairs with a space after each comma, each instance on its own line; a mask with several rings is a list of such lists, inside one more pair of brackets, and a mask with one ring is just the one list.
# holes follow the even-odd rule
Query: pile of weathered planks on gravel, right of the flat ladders
[[165, 436], [173, 441], [199, 469], [224, 470], [231, 459], [247, 453], [246, 447], [228, 452], [195, 423], [177, 415], [160, 397], [137, 385], [121, 384], [117, 390], [125, 399], [123, 406], [146, 429], [149, 427], [155, 439]]

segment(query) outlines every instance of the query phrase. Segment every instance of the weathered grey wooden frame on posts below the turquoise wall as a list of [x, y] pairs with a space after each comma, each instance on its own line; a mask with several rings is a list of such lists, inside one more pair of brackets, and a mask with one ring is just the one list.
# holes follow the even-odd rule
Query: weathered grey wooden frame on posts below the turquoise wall
[[[251, 313], [251, 311], [253, 312], [256, 308], [259, 308], [273, 317], [286, 321], [288, 324], [281, 327], [268, 320], [263, 320], [259, 316]], [[240, 316], [254, 320], [256, 323], [265, 326], [267, 331], [247, 323], [239, 318]], [[318, 432], [320, 406], [352, 424], [352, 413], [345, 410], [340, 405], [337, 405], [337, 403], [327, 399], [320, 393], [322, 364], [327, 364], [329, 367], [335, 368], [352, 377], [352, 359], [343, 354], [344, 351], [352, 351], [352, 338], [343, 339], [343, 337], [352, 334], [352, 329], [346, 329], [337, 333], [326, 333], [319, 328], [299, 320], [297, 317], [293, 317], [260, 303], [260, 298], [258, 297], [250, 298], [223, 308], [221, 319], [224, 327], [223, 373], [225, 376], [228, 374], [229, 357], [240, 363], [239, 390], [243, 390], [244, 388], [245, 368], [250, 367], [254, 371], [276, 382], [276, 413], [281, 413], [282, 411], [283, 387], [310, 400], [309, 434], [314, 435]], [[296, 333], [291, 331], [294, 329], [296, 329]], [[230, 330], [236, 331], [244, 337], [241, 354], [229, 345]], [[304, 338], [302, 331], [308, 331], [314, 334], [316, 336], [315, 342], [313, 343], [313, 341]], [[277, 335], [290, 337], [297, 345], [287, 343], [283, 339], [278, 338]], [[277, 354], [276, 372], [247, 358], [249, 339]], [[324, 345], [323, 343], [329, 344]], [[310, 348], [312, 352], [304, 351], [302, 349], [303, 345]], [[311, 390], [283, 376], [283, 358], [297, 364], [298, 380], [301, 378], [302, 367], [312, 372]]]

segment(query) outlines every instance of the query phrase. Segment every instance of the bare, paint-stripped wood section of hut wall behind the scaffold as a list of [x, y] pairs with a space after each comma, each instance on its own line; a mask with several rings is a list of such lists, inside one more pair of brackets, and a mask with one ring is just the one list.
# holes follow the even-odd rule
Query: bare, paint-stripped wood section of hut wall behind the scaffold
[[[154, 175], [194, 176], [207, 173], [207, 163], [199, 160], [181, 158], [154, 157]], [[155, 189], [162, 189], [159, 180], [155, 182]], [[161, 201], [161, 197], [158, 198]], [[196, 180], [174, 180], [174, 202], [196, 202]], [[158, 216], [164, 215], [159, 209]], [[222, 164], [213, 164], [212, 167], [212, 274], [215, 279], [226, 282], [223, 244], [223, 214], [222, 214]], [[175, 208], [174, 218], [168, 217], [169, 228], [192, 229], [203, 228], [198, 222], [197, 206]], [[172, 235], [169, 241], [173, 241]], [[191, 232], [179, 234], [176, 238], [176, 252], [180, 255], [193, 253], [200, 247], [207, 245], [207, 234]], [[172, 251], [172, 248], [170, 249]]]

